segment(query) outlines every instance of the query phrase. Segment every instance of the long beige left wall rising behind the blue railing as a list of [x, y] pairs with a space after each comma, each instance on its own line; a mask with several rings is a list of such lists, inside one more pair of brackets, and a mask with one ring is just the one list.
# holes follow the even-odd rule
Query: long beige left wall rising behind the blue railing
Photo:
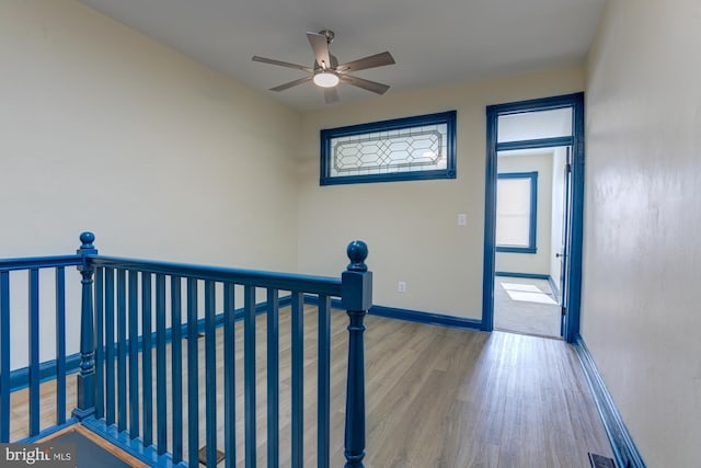
[[71, 0], [2, 0], [0, 68], [0, 258], [297, 267], [297, 113]]

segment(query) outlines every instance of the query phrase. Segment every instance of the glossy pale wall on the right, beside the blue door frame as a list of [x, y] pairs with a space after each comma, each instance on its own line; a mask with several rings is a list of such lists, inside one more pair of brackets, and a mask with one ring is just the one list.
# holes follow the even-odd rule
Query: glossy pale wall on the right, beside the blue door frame
[[699, 466], [701, 3], [614, 0], [587, 70], [582, 334], [647, 466]]

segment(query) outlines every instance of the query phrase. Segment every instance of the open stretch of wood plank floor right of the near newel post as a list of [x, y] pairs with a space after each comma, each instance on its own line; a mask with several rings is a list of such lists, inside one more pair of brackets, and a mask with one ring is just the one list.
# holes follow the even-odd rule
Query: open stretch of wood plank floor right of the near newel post
[[588, 467], [587, 452], [610, 455], [562, 341], [372, 317], [367, 341], [368, 466]]

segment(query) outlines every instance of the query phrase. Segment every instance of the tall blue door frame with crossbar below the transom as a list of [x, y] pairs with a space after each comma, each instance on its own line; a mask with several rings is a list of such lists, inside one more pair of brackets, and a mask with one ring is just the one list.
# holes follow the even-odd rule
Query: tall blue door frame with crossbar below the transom
[[[571, 137], [542, 138], [525, 141], [497, 144], [497, 118], [524, 112], [548, 111], [572, 107]], [[525, 148], [545, 148], [556, 146], [572, 147], [572, 186], [570, 206], [570, 227], [566, 263], [568, 288], [566, 294], [567, 313], [563, 338], [573, 343], [579, 335], [579, 306], [582, 298], [582, 243], [584, 219], [584, 93], [566, 94], [486, 107], [486, 184], [484, 209], [484, 276], [482, 293], [482, 330], [494, 329], [494, 274], [496, 236], [496, 180], [497, 152]]]

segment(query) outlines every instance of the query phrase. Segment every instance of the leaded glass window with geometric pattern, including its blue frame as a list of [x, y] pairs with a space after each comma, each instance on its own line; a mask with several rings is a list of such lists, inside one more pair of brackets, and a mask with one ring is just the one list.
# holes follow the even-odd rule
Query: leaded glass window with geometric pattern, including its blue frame
[[456, 113], [322, 130], [322, 185], [455, 178]]

